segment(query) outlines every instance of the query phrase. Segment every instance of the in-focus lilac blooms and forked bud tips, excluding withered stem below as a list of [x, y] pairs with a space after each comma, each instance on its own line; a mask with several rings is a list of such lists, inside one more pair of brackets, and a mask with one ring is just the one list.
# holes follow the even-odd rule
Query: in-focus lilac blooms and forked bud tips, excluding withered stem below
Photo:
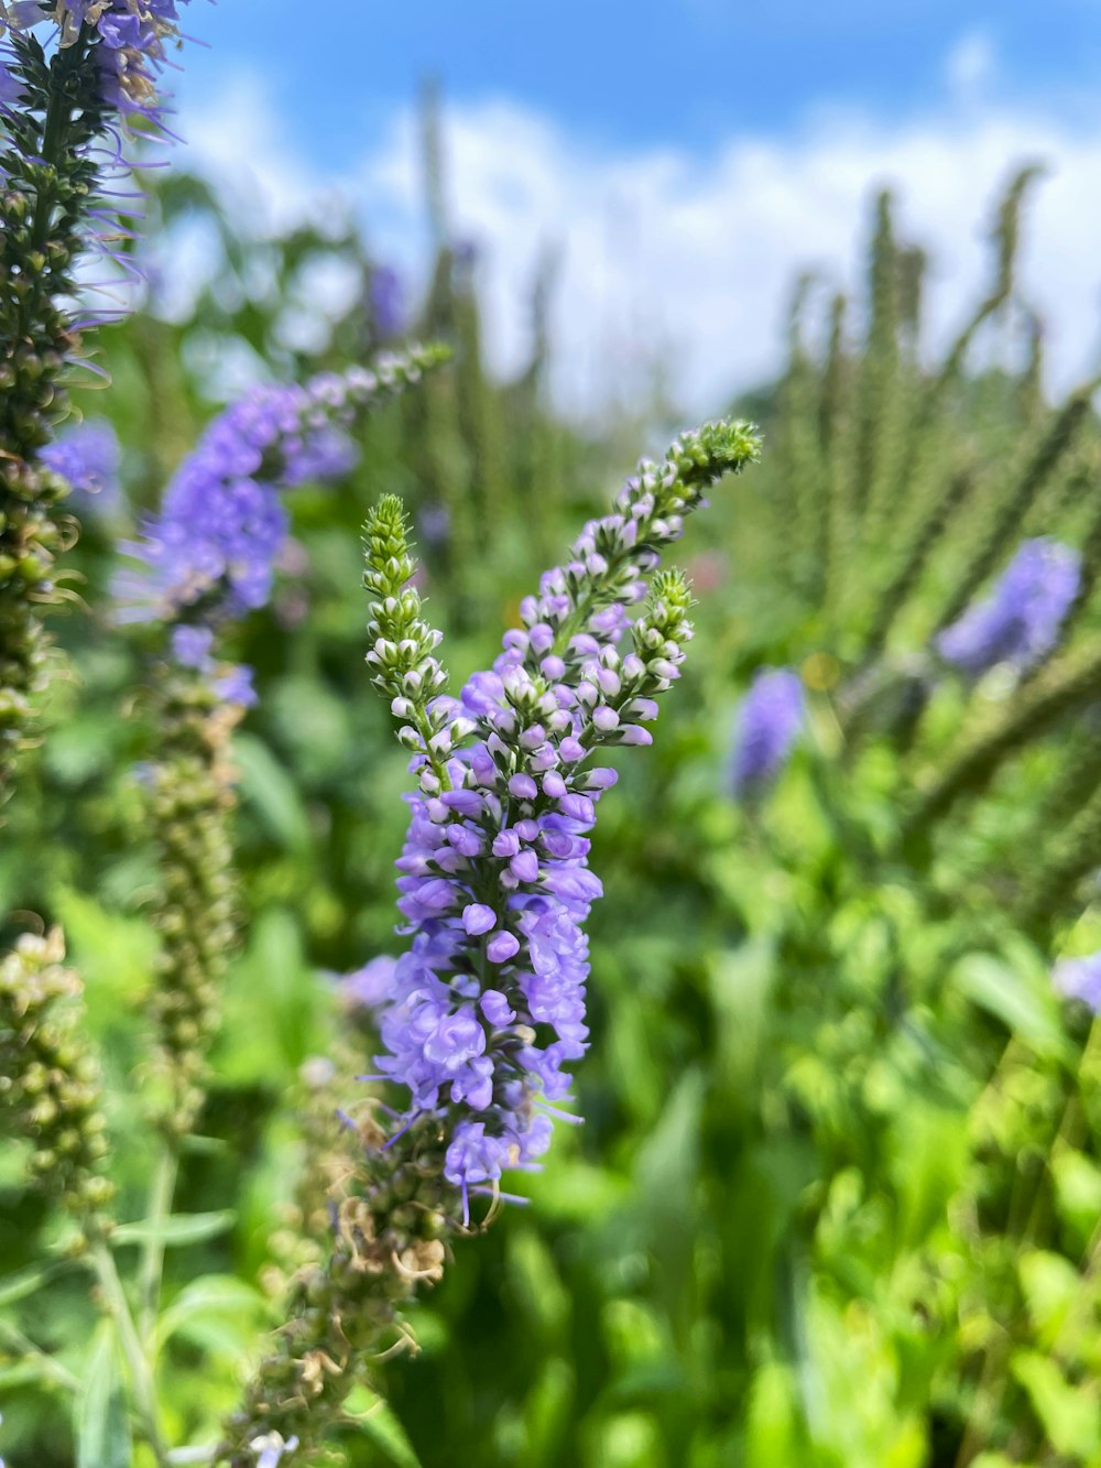
[[418, 777], [398, 862], [413, 942], [389, 976], [377, 1066], [410, 1092], [405, 1126], [443, 1119], [443, 1174], [464, 1220], [471, 1188], [496, 1189], [505, 1169], [546, 1151], [564, 1066], [586, 1050], [583, 923], [600, 895], [589, 832], [617, 778], [590, 760], [650, 743], [644, 725], [691, 637], [687, 583], [655, 574], [661, 549], [705, 489], [756, 452], [746, 426], [719, 423], [683, 435], [664, 464], [643, 462], [458, 699], [443, 693], [439, 633], [408, 584], [399, 502], [368, 521], [367, 658]]

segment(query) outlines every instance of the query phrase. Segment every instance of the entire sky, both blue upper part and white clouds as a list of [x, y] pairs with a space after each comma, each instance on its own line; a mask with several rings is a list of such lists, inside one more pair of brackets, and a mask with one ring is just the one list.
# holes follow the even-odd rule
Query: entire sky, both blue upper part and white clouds
[[411, 294], [414, 104], [437, 76], [452, 225], [483, 251], [501, 371], [524, 361], [540, 251], [562, 252], [564, 401], [609, 383], [630, 401], [661, 367], [709, 411], [775, 370], [793, 275], [856, 280], [881, 184], [932, 252], [942, 339], [979, 288], [994, 194], [1035, 156], [1053, 181], [1025, 286], [1053, 380], [1097, 358], [1101, 0], [195, 0], [188, 28], [208, 48], [184, 56], [182, 159], [250, 222], [339, 194]]

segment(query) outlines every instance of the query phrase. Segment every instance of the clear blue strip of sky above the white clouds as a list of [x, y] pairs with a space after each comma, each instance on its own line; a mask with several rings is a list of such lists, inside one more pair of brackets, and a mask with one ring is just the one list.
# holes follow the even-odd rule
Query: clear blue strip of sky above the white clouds
[[[324, 23], [305, 21], [324, 15]], [[1094, 0], [220, 0], [195, 3], [185, 91], [267, 76], [305, 148], [339, 157], [436, 73], [457, 101], [508, 95], [605, 145], [712, 147], [784, 132], [807, 109], [888, 116], [944, 100], [964, 32], [997, 47], [1016, 98], [1072, 100], [1101, 78]]]

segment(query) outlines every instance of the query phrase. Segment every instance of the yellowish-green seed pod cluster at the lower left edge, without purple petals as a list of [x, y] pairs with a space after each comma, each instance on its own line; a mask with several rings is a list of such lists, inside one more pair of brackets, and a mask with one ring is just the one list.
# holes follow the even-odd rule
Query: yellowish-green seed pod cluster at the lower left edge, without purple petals
[[37, 1186], [87, 1218], [112, 1185], [100, 1174], [107, 1142], [81, 992], [57, 931], [25, 934], [0, 962], [0, 1123], [31, 1144]]

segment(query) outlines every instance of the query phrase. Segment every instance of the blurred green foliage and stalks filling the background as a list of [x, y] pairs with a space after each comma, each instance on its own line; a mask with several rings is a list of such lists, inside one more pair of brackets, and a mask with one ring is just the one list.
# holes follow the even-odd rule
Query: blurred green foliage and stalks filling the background
[[[524, 1179], [531, 1205], [459, 1249], [411, 1321], [420, 1353], [379, 1364], [389, 1412], [357, 1400], [342, 1461], [1101, 1465], [1101, 1050], [1050, 978], [1101, 947], [1101, 437], [1094, 385], [1045, 398], [1016, 292], [1032, 172], [940, 355], [925, 260], [882, 195], [862, 299], [799, 282], [782, 379], [733, 405], [762, 423], [765, 461], [688, 531], [690, 672], [655, 747], [619, 759], [596, 832], [586, 1123]], [[201, 1217], [170, 1240], [175, 1440], [216, 1431], [286, 1273], [320, 1246], [333, 1108], [370, 1069], [370, 1017], [336, 976], [395, 944], [407, 777], [363, 668], [364, 511], [405, 496], [462, 677], [677, 426], [661, 402], [644, 430], [555, 414], [550, 257], [530, 366], [492, 380], [480, 261], [437, 197], [430, 285], [402, 311], [351, 226], [258, 241], [203, 181], [161, 179], [148, 305], [103, 333], [112, 386], [81, 401], [119, 433], [126, 495], [73, 506], [48, 737], [7, 812], [0, 910], [65, 925], [107, 1058], [119, 1217], [139, 1218], [151, 1144], [126, 1097], [156, 937], [135, 769], [157, 735], [142, 634], [110, 619], [119, 540], [250, 374], [301, 379], [407, 335], [455, 348], [370, 421], [341, 490], [292, 493], [277, 596], [235, 649], [260, 690], [235, 746], [248, 935], [185, 1152], [178, 1211]], [[181, 230], [214, 250], [186, 310], [156, 269]], [[1060, 640], [1028, 671], [960, 678], [934, 636], [1035, 534], [1083, 558]], [[766, 665], [800, 672], [806, 728], [775, 785], [738, 802], [735, 711]], [[56, 1229], [18, 1163], [0, 1171], [9, 1279]], [[3, 1452], [60, 1468], [57, 1371], [88, 1378], [95, 1311], [73, 1273], [19, 1295], [0, 1280]], [[53, 1371], [16, 1364], [26, 1336]]]

